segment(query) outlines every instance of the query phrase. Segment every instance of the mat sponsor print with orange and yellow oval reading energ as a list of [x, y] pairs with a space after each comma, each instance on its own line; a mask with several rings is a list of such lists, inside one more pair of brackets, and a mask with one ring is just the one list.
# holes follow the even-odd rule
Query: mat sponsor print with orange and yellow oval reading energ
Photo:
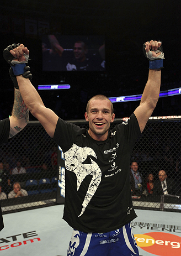
[[[178, 223], [178, 224], [176, 224]], [[181, 226], [179, 222], [131, 222], [140, 256], [181, 256]]]

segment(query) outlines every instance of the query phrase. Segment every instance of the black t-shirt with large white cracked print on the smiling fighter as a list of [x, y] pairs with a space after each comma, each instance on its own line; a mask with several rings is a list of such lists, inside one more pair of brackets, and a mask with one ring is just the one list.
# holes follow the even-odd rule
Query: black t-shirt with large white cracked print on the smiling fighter
[[58, 119], [54, 140], [65, 156], [63, 219], [74, 229], [104, 233], [134, 220], [130, 157], [140, 128], [135, 114], [109, 132], [91, 138], [86, 129]]

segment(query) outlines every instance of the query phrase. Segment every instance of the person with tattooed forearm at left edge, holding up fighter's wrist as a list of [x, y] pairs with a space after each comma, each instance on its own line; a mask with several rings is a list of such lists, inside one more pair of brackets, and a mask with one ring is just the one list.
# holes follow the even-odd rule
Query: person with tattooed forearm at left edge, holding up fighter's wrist
[[[14, 77], [14, 105], [12, 115], [0, 121], [0, 145], [7, 143], [8, 139], [19, 133], [28, 123], [29, 109], [26, 107], [19, 91], [18, 83]], [[3, 218], [0, 205], [0, 231], [3, 229]]]

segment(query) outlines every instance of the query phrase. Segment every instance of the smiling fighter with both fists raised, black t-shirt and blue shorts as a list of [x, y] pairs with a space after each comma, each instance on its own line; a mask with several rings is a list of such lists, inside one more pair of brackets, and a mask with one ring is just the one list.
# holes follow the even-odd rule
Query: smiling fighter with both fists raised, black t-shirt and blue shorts
[[96, 95], [88, 101], [84, 115], [88, 130], [63, 121], [44, 106], [29, 79], [23, 77], [27, 71], [24, 73], [19, 63], [28, 60], [29, 50], [20, 44], [5, 51], [4, 58], [11, 66], [14, 58], [17, 61], [13, 70], [26, 105], [65, 156], [63, 219], [73, 227], [67, 256], [139, 255], [130, 224], [137, 216], [132, 207], [129, 165], [136, 139], [158, 101], [162, 43], [151, 40], [143, 45], [150, 71], [140, 106], [113, 130], [109, 128], [115, 114], [107, 97]]

